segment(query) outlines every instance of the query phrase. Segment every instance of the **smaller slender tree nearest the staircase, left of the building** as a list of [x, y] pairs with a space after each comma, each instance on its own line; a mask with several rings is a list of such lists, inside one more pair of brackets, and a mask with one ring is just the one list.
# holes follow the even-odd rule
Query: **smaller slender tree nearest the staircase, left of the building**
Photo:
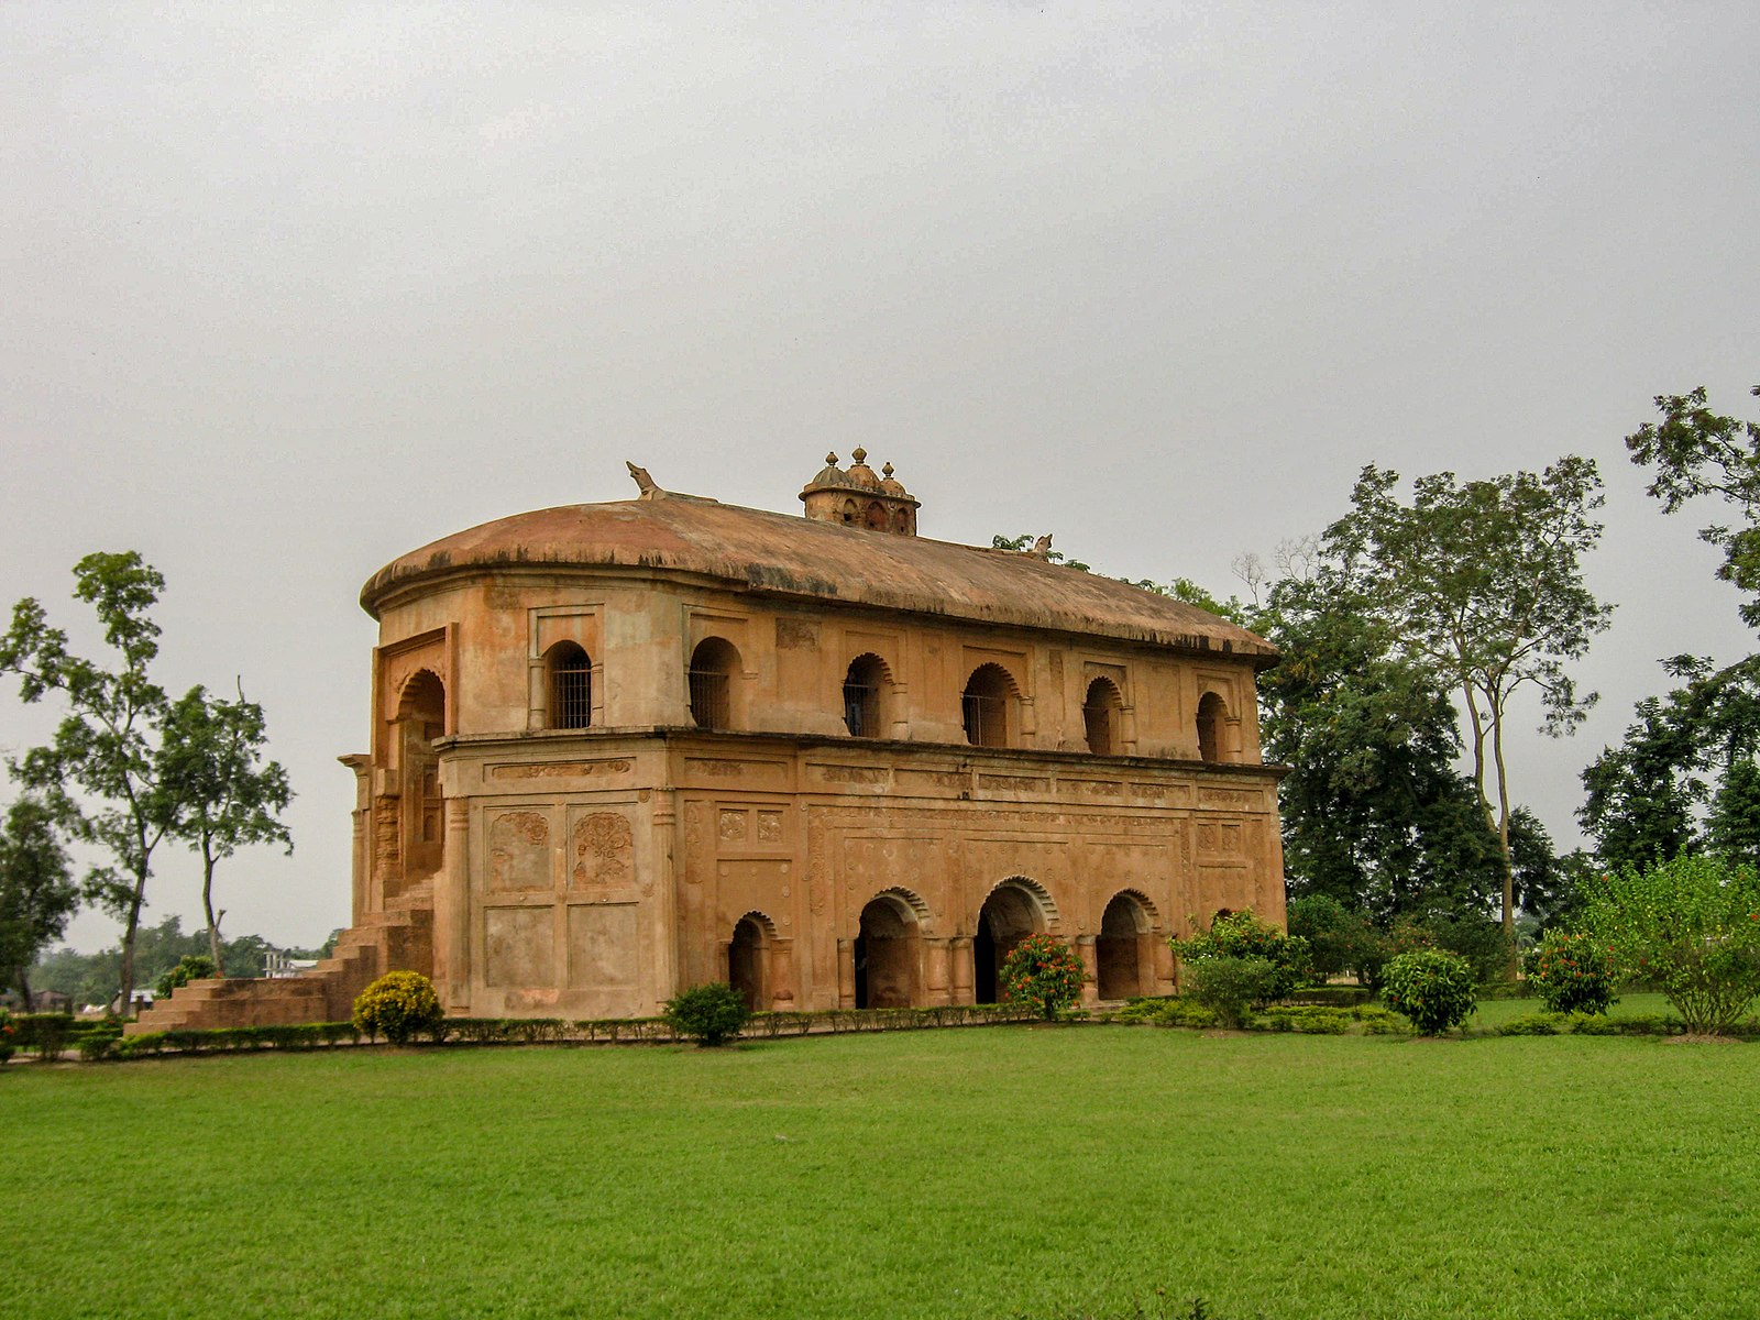
[[[167, 711], [162, 773], [167, 790], [183, 803], [174, 832], [202, 857], [202, 912], [208, 917], [208, 956], [213, 975], [225, 975], [220, 920], [215, 915], [215, 866], [252, 843], [280, 843], [294, 850], [292, 836], [276, 818], [292, 801], [287, 771], [262, 760], [266, 741], [262, 708], [211, 697], [190, 688]], [[225, 915], [225, 913], [220, 913]]]

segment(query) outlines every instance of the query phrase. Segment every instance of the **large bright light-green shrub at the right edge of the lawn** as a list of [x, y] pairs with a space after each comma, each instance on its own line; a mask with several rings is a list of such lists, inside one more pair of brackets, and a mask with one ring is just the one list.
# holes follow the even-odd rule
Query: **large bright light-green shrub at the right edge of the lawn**
[[1663, 993], [1686, 1030], [1728, 1031], [1760, 996], [1760, 875], [1676, 857], [1589, 880], [1579, 928], [1614, 966]]

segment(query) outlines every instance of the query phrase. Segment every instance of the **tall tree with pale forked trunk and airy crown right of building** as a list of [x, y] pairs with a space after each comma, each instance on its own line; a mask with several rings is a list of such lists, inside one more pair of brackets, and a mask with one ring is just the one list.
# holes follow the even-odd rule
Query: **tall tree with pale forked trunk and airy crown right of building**
[[1457, 482], [1420, 477], [1412, 503], [1394, 495], [1399, 473], [1375, 465], [1352, 491], [1352, 512], [1327, 528], [1325, 549], [1359, 597], [1413, 658], [1461, 699], [1473, 757], [1473, 787], [1498, 840], [1503, 933], [1514, 950], [1515, 869], [1505, 723], [1510, 702], [1533, 688], [1542, 729], [1566, 734], [1595, 693], [1579, 693], [1565, 669], [1607, 628], [1610, 605], [1582, 581], [1580, 558], [1602, 524], [1602, 480], [1593, 459], [1566, 456], [1540, 473]]

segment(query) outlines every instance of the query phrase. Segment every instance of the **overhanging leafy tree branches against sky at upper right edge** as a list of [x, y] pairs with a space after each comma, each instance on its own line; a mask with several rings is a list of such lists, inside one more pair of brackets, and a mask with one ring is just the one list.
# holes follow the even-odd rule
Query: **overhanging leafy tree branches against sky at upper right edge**
[[[1760, 396], [1760, 385], [1753, 394]], [[1718, 577], [1760, 597], [1760, 422], [1723, 417], [1705, 407], [1705, 387], [1690, 394], [1658, 394], [1660, 422], [1644, 422], [1626, 436], [1639, 466], [1654, 465], [1649, 493], [1676, 512], [1700, 495], [1720, 495], [1735, 505], [1748, 526], [1712, 523], [1700, 539], [1723, 549]], [[1760, 598], [1741, 607], [1742, 621], [1760, 628]]]

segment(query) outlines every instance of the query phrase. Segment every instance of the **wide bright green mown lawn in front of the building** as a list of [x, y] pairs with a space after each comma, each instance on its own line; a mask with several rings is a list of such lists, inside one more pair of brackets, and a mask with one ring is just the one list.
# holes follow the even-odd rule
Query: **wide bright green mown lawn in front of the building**
[[1756, 1109], [1573, 1037], [12, 1067], [0, 1315], [1751, 1316]]

